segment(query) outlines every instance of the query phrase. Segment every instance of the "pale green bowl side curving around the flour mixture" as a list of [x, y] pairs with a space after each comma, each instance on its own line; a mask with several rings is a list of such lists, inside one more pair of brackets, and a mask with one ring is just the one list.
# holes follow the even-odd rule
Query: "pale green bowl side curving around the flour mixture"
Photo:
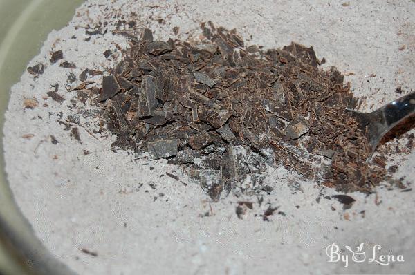
[[[37, 55], [39, 48], [51, 30], [62, 28], [75, 14], [75, 8], [84, 0], [26, 1], [0, 0], [0, 10], [8, 13], [8, 28], [3, 41], [0, 41], [0, 78], [3, 73], [19, 72], [12, 79], [1, 79], [0, 88], [0, 273], [13, 274], [75, 274], [46, 249], [35, 236], [30, 223], [21, 213], [8, 184], [3, 151], [3, 119], [6, 113], [10, 88], [19, 80], [28, 61]], [[26, 4], [26, 6], [24, 6]], [[3, 7], [3, 9], [1, 8]], [[23, 7], [23, 8], [22, 8]], [[44, 21], [44, 19], [48, 19]], [[28, 23], [30, 22], [30, 23]], [[17, 44], [19, 37], [30, 35], [30, 44], [24, 44], [28, 54], [24, 57], [10, 57], [9, 50]], [[35, 53], [35, 54], [33, 54]], [[14, 62], [14, 63], [13, 63]], [[14, 67], [13, 67], [14, 66]], [[11, 67], [13, 67], [11, 69]], [[7, 266], [1, 266], [6, 263]]]

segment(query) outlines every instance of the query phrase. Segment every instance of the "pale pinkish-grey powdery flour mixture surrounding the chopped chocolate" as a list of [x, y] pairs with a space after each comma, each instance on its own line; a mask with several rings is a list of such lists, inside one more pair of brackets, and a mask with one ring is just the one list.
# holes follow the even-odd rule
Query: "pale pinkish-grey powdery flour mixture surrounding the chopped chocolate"
[[[133, 153], [110, 150], [114, 137], [85, 129], [97, 129], [97, 120], [82, 116], [93, 107], [77, 100], [81, 84], [67, 79], [86, 68], [105, 71], [127, 48], [122, 35], [113, 35], [124, 15], [136, 20], [138, 31], [149, 27], [155, 40], [199, 39], [199, 24], [237, 28], [247, 44], [266, 48], [297, 41], [313, 46], [324, 66], [337, 66], [349, 75], [356, 97], [367, 96], [362, 111], [370, 111], [415, 88], [415, 3], [389, 1], [86, 1], [66, 28], [48, 36], [41, 53], [29, 64], [47, 64], [35, 79], [24, 73], [13, 86], [5, 124], [8, 180], [21, 211], [37, 236], [57, 258], [79, 274], [333, 274], [409, 273], [415, 269], [414, 191], [387, 190], [356, 199], [351, 209], [324, 196], [332, 189], [304, 182], [284, 168], [270, 169], [266, 183], [273, 187], [259, 205], [257, 198], [230, 195], [211, 202], [179, 167], [165, 160], [149, 162]], [[158, 23], [163, 19], [163, 23]], [[87, 25], [107, 22], [104, 35], [84, 41]], [[178, 35], [173, 28], [180, 27]], [[111, 49], [107, 60], [103, 53]], [[50, 52], [62, 50], [64, 59], [50, 64]], [[61, 61], [77, 68], [59, 67]], [[99, 86], [101, 76], [89, 78]], [[79, 77], [78, 77], [79, 78]], [[59, 84], [59, 104], [47, 96]], [[412, 89], [412, 90], [411, 90]], [[33, 109], [25, 99], [36, 99]], [[59, 113], [62, 112], [62, 113]], [[64, 131], [67, 115], [80, 115], [82, 144]], [[83, 128], [84, 127], [84, 128]], [[414, 130], [412, 132], [414, 133]], [[59, 142], [50, 142], [53, 135]], [[407, 140], [391, 140], [405, 148]], [[84, 154], [84, 151], [89, 154]], [[381, 150], [381, 148], [380, 148]], [[86, 152], [85, 152], [86, 153]], [[415, 153], [389, 156], [398, 164], [396, 178], [413, 184]], [[149, 165], [145, 165], [149, 164]], [[150, 167], [154, 169], [150, 170]], [[180, 181], [166, 175], [174, 173]], [[185, 184], [187, 186], [185, 186]], [[320, 198], [320, 200], [318, 199]], [[242, 219], [237, 202], [248, 200]], [[261, 214], [279, 207], [269, 222]], [[257, 214], [257, 216], [255, 216]], [[353, 250], [364, 243], [365, 263], [328, 263], [326, 247], [332, 243]], [[380, 254], [403, 255], [404, 263], [387, 266], [369, 263], [374, 245]], [[95, 252], [91, 256], [82, 252]]]

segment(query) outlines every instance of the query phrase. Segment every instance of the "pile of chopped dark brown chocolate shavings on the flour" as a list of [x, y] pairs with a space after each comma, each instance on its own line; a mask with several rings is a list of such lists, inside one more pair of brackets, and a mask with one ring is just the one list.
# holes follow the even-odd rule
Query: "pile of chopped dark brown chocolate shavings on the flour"
[[[131, 39], [100, 91], [113, 148], [180, 164], [216, 200], [223, 191], [272, 191], [267, 165], [342, 191], [370, 191], [385, 168], [345, 108], [357, 100], [313, 48], [245, 46], [235, 30], [201, 26], [201, 44]], [[332, 160], [324, 166], [322, 158]]]

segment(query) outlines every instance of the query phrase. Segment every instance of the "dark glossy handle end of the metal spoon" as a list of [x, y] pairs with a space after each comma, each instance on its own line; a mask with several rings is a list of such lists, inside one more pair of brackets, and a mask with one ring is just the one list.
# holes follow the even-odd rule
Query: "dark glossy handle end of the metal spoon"
[[415, 92], [386, 104], [380, 110], [385, 117], [387, 128], [393, 128], [398, 122], [415, 113]]

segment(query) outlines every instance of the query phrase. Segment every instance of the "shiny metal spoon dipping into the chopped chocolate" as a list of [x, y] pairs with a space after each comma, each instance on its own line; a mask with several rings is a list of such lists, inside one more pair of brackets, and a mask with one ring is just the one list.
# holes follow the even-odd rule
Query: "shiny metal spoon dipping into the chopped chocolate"
[[356, 118], [360, 129], [368, 138], [369, 161], [382, 137], [400, 121], [415, 113], [415, 92], [404, 95], [371, 113], [346, 110]]

